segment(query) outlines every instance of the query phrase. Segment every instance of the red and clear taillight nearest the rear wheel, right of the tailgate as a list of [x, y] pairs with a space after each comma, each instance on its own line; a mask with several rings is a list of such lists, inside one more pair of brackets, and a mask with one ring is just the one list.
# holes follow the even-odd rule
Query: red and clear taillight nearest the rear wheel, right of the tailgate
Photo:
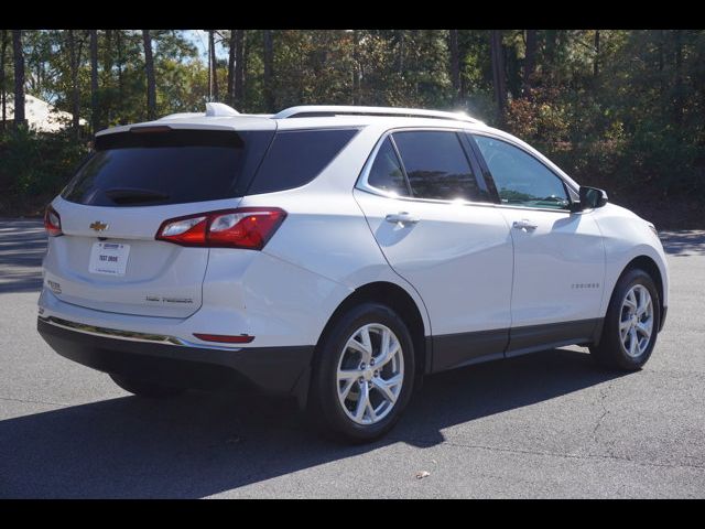
[[205, 248], [261, 250], [286, 217], [279, 207], [240, 207], [170, 218], [158, 240]]

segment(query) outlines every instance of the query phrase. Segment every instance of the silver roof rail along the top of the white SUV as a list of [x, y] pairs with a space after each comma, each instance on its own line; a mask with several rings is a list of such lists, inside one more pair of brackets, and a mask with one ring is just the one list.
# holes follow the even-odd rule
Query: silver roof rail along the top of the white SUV
[[484, 125], [482, 121], [470, 118], [463, 112], [444, 112], [442, 110], [398, 107], [348, 107], [341, 105], [306, 105], [290, 107], [279, 114], [275, 114], [273, 119], [313, 118], [325, 116], [405, 116], [409, 118], [454, 119], [456, 121]]

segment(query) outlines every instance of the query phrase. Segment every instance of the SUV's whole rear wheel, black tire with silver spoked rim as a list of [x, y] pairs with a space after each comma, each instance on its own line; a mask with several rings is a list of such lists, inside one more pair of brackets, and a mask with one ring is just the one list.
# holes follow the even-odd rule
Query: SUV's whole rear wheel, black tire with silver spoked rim
[[338, 439], [372, 441], [399, 420], [413, 380], [414, 349], [406, 324], [386, 305], [360, 304], [321, 341], [310, 418]]

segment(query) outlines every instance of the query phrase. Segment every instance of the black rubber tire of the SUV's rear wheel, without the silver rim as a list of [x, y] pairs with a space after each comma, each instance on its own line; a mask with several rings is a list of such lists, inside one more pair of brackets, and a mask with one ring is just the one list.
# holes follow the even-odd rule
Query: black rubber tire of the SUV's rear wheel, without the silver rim
[[[337, 369], [347, 341], [364, 325], [375, 323], [387, 326], [399, 339], [403, 357], [403, 381], [397, 401], [383, 419], [371, 424], [359, 424], [346, 414], [338, 399]], [[308, 396], [310, 422], [322, 433], [338, 441], [366, 443], [379, 439], [394, 427], [409, 403], [414, 370], [413, 341], [403, 320], [381, 303], [359, 304], [338, 319], [318, 344]]]

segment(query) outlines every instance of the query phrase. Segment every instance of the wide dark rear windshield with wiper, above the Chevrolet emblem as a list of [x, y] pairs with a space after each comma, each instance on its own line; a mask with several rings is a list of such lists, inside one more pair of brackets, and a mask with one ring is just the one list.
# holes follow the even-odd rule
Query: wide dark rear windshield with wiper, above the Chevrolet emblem
[[167, 130], [96, 139], [62, 196], [93, 206], [143, 206], [242, 196], [273, 132]]

